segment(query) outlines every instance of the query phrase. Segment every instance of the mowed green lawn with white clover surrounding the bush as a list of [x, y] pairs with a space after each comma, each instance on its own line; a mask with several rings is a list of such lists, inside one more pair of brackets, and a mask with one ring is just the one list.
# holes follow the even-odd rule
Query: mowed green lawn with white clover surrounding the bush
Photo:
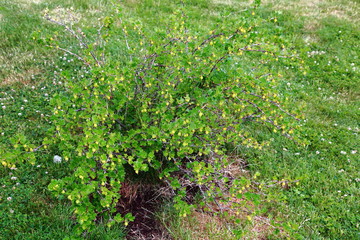
[[[175, 6], [167, 1], [121, 3], [125, 16], [152, 26], [157, 25], [156, 15], [170, 14]], [[193, 13], [189, 20], [197, 22], [199, 31], [207, 31], [224, 12], [241, 14], [249, 6], [248, 1], [196, 0], [188, 4]], [[86, 74], [80, 63], [32, 39], [34, 32], [49, 38], [56, 31], [63, 32], [42, 18], [46, 9], [60, 18], [71, 12], [73, 21], [90, 34], [89, 27], [97, 25], [97, 19], [110, 8], [110, 2], [95, 0], [0, 3], [0, 153], [10, 151], [11, 138], [18, 133], [41, 145], [51, 126], [49, 101], [63, 89], [58, 73], [77, 69], [78, 77]], [[274, 180], [299, 180], [299, 185], [280, 184], [266, 191], [274, 194], [274, 201], [262, 204], [265, 213], [261, 216], [238, 226], [247, 231], [244, 239], [270, 238], [275, 231], [270, 220], [284, 223], [280, 230], [290, 238], [360, 238], [359, 12], [358, 1], [263, 1], [259, 13], [278, 20], [268, 29], [269, 34], [280, 32], [308, 67], [306, 75], [288, 69], [282, 83], [294, 107], [305, 105], [301, 134], [308, 144], [299, 147], [274, 135], [266, 152], [237, 148], [248, 170], [260, 173], [256, 181], [273, 185]], [[76, 48], [65, 33], [62, 41], [64, 46]], [[123, 45], [119, 44], [111, 45], [113, 55], [109, 58], [121, 57], [119, 48]], [[35, 165], [1, 166], [0, 239], [62, 239], [72, 231], [75, 222], [69, 203], [55, 199], [47, 190], [52, 178], [67, 173], [62, 164], [53, 163], [55, 154], [56, 149], [41, 150]], [[175, 239], [226, 239], [228, 235], [221, 219], [201, 214], [178, 219], [171, 207], [158, 216]], [[124, 230], [100, 224], [84, 238], [122, 239]]]

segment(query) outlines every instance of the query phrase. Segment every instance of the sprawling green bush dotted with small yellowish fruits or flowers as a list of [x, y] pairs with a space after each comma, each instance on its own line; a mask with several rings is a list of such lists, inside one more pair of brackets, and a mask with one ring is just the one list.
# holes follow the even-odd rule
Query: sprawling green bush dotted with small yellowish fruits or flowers
[[[66, 87], [51, 101], [54, 127], [43, 144], [56, 148], [71, 172], [49, 189], [72, 202], [78, 233], [99, 219], [109, 226], [132, 221], [131, 214], [117, 211], [120, 189], [146, 173], [169, 186], [181, 216], [195, 207], [186, 201], [190, 185], [201, 202], [231, 202], [226, 208], [236, 208], [239, 201], [232, 200], [243, 194], [257, 200], [246, 190], [250, 181], [226, 169], [236, 163], [238, 146], [269, 145], [255, 133], [259, 129], [296, 140], [300, 117], [278, 92], [277, 66], [301, 68], [301, 62], [281, 36], [265, 31], [276, 18], [258, 16], [256, 6], [206, 32], [194, 27], [182, 5], [155, 29], [140, 20], [126, 22], [118, 11], [103, 18], [93, 43], [48, 18], [81, 51], [61, 46], [59, 36], [41, 41], [67, 51], [89, 71], [84, 78], [63, 72]], [[114, 49], [114, 39], [122, 42], [122, 59], [107, 48]]]

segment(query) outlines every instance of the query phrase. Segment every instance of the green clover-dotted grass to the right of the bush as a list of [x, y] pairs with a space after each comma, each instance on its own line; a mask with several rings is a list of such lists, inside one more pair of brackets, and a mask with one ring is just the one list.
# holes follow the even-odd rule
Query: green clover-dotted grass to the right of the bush
[[[276, 208], [285, 219], [300, 224], [301, 235], [357, 239], [360, 31], [355, 23], [328, 15], [309, 29], [304, 23], [315, 20], [307, 16], [294, 20], [295, 14], [282, 10], [279, 24], [287, 38], [309, 56], [305, 58], [309, 71], [306, 77], [294, 74], [285, 88], [294, 104], [306, 103], [302, 129], [309, 144], [299, 149], [276, 141], [272, 151], [252, 155], [250, 162], [264, 178], [301, 180], [299, 187], [284, 191], [286, 202]], [[309, 35], [316, 41], [304, 42]]]

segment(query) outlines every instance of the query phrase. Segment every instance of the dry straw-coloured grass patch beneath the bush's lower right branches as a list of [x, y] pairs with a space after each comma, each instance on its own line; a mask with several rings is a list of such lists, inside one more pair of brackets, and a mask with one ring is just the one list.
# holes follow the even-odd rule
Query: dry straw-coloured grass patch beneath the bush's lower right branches
[[[241, 176], [250, 177], [248, 171], [245, 170], [246, 162], [243, 159], [233, 157], [231, 160], [232, 164], [222, 169], [223, 176], [229, 179]], [[226, 194], [226, 186], [220, 185], [221, 183], [219, 183], [219, 187]], [[205, 208], [211, 210], [205, 210]], [[233, 233], [234, 228], [242, 228], [246, 232], [242, 239], [268, 239], [275, 227], [271, 225], [270, 219], [266, 216], [252, 216], [257, 208], [258, 206], [251, 201], [233, 196], [227, 203], [220, 201], [207, 203], [203, 209], [194, 210], [190, 216], [180, 219], [175, 228], [171, 225], [167, 226], [166, 216], [163, 216], [164, 220], [161, 222], [169, 229], [169, 232], [178, 237], [177, 239], [233, 240], [236, 239]], [[227, 214], [218, 214], [220, 212]], [[241, 225], [235, 223], [235, 219], [240, 219]], [[286, 234], [280, 229], [277, 237], [282, 239], [286, 237]]]

